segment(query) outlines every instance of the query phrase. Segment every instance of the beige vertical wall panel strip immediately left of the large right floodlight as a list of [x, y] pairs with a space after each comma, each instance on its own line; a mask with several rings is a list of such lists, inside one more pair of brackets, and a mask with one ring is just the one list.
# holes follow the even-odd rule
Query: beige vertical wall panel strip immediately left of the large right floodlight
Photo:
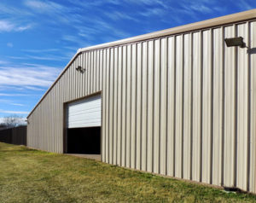
[[213, 29], [212, 38], [212, 184], [222, 184], [224, 161], [224, 38], [223, 28]]

